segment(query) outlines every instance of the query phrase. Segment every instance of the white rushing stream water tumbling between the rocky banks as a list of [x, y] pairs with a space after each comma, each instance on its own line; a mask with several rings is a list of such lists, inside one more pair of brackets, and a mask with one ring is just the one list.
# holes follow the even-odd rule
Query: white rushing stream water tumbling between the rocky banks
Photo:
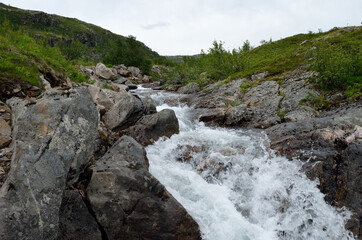
[[[146, 89], [141, 89], [147, 93]], [[150, 172], [197, 221], [203, 239], [354, 239], [345, 209], [325, 203], [302, 163], [278, 157], [262, 131], [210, 128], [187, 106], [176, 112], [180, 134], [148, 146]]]

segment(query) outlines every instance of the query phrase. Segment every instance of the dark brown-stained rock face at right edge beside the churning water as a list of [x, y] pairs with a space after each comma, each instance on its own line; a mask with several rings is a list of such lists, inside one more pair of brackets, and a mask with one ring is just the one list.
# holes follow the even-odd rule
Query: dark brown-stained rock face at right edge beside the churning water
[[361, 119], [362, 106], [355, 104], [266, 129], [273, 149], [306, 162], [307, 176], [319, 179], [328, 203], [352, 210], [347, 227], [356, 235], [361, 234]]

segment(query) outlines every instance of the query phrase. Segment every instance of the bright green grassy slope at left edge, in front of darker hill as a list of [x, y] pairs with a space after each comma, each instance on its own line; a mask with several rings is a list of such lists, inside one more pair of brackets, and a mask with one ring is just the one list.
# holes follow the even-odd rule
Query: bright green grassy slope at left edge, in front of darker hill
[[59, 48], [50, 47], [42, 39], [35, 40], [27, 31], [13, 30], [8, 22], [0, 25], [0, 76], [17, 78], [39, 86], [40, 72], [50, 68], [65, 74], [74, 82], [87, 78], [67, 61]]

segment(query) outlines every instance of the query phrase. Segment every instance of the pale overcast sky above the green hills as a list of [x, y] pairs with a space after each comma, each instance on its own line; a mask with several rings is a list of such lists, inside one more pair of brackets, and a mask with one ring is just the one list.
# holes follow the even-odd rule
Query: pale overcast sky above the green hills
[[360, 26], [362, 0], [0, 0], [14, 7], [74, 17], [161, 55], [191, 55], [214, 40], [227, 49], [245, 40], [279, 40], [335, 26]]

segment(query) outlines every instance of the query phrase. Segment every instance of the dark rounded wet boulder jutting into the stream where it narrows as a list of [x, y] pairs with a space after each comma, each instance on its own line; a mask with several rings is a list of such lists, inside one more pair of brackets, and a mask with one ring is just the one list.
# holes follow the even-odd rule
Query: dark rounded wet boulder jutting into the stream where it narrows
[[177, 133], [179, 133], [179, 124], [175, 112], [171, 109], [146, 115], [134, 126], [122, 131], [122, 134], [133, 137], [143, 146], [154, 143], [160, 137], [171, 137]]

